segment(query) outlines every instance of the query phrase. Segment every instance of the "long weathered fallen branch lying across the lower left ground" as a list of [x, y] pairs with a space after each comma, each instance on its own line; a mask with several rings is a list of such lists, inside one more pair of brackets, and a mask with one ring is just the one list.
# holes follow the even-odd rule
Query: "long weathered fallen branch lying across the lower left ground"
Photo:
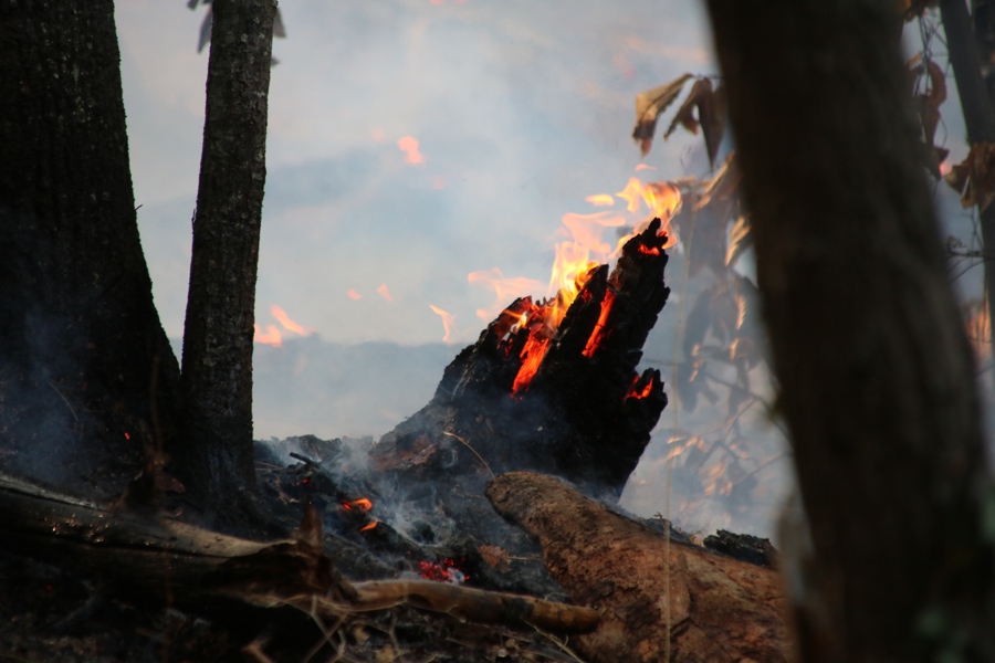
[[[557, 632], [587, 631], [598, 614], [533, 597], [426, 580], [350, 582], [322, 549], [313, 508], [294, 538], [250, 541], [128, 507], [102, 506], [0, 475], [0, 534], [10, 551], [95, 573], [114, 592], [205, 610], [224, 619], [245, 608], [296, 608], [301, 615], [408, 604], [459, 619]], [[256, 618], [256, 621], [259, 618]]]

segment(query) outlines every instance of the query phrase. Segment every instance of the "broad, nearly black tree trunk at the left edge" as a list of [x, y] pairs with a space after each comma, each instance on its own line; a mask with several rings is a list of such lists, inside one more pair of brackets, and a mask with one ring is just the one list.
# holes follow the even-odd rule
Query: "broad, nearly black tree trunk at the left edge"
[[168, 427], [179, 381], [138, 240], [113, 2], [3, 3], [0, 43], [0, 462], [113, 493], [158, 428], [150, 390]]

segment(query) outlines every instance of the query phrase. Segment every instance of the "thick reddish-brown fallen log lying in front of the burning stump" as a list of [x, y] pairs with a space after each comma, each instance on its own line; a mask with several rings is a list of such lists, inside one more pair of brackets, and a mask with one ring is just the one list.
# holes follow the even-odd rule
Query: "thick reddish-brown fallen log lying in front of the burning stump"
[[680, 544], [551, 476], [511, 472], [494, 508], [543, 548], [546, 568], [601, 621], [577, 650], [595, 662], [785, 662], [787, 609], [776, 571]]

